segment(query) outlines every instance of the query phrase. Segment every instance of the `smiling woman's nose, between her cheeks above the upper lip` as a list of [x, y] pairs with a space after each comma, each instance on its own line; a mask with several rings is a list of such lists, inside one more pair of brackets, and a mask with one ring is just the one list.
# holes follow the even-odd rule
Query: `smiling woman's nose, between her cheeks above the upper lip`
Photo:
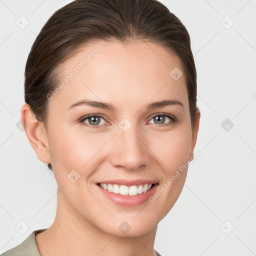
[[136, 170], [149, 165], [151, 151], [145, 136], [135, 127], [131, 126], [126, 131], [118, 130], [111, 143], [110, 159], [113, 166]]

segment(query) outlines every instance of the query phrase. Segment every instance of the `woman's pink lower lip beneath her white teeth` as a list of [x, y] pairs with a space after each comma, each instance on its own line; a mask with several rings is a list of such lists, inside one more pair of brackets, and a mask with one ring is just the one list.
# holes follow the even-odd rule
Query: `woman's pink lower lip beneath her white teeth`
[[135, 206], [142, 204], [143, 202], [147, 201], [148, 198], [154, 193], [156, 187], [158, 184], [154, 184], [152, 188], [147, 190], [145, 193], [137, 194], [137, 195], [121, 195], [116, 194], [113, 192], [109, 192], [108, 190], [100, 187], [99, 185], [96, 185], [102, 193], [113, 202], [124, 205], [124, 206]]

